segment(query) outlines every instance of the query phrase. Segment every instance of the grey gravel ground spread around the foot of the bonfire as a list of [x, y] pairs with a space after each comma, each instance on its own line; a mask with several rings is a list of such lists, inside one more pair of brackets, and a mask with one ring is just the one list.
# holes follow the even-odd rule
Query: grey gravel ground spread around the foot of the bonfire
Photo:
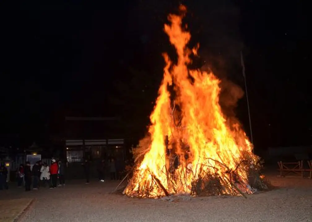
[[[174, 201], [136, 199], [110, 194], [117, 183], [83, 184], [32, 192], [37, 201], [24, 216], [33, 221], [312, 221], [312, 180], [269, 177], [279, 189], [243, 197], [175, 198]], [[15, 189], [17, 190], [17, 189]], [[8, 197], [8, 196], [7, 196]], [[0, 198], [1, 199], [1, 198]]]

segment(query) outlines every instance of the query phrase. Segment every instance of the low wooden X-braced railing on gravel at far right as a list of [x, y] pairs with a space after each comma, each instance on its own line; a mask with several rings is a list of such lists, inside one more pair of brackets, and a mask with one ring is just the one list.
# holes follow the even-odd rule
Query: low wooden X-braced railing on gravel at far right
[[308, 166], [309, 169], [304, 169], [303, 168], [303, 160], [300, 160], [298, 162], [282, 162], [279, 161], [277, 162], [279, 166], [279, 171], [280, 171], [280, 177], [285, 177], [289, 173], [295, 173], [301, 177], [304, 177], [304, 172], [309, 172], [309, 178], [312, 178], [312, 160], [308, 160]]

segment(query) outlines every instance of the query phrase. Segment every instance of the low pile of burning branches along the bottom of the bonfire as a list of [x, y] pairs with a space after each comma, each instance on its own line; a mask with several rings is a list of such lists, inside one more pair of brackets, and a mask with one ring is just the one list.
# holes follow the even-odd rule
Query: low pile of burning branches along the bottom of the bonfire
[[[184, 190], [178, 190], [179, 184], [184, 184], [185, 186], [188, 183], [187, 181], [182, 181], [185, 175], [190, 174], [193, 176], [193, 172], [191, 166], [186, 166], [185, 164], [183, 164], [184, 169], [182, 171], [178, 170], [175, 160], [177, 160], [177, 157], [174, 160], [168, 160], [169, 167], [163, 169], [166, 175], [166, 183], [163, 184], [161, 179], [149, 169], [146, 169], [146, 174], [150, 175], [151, 181], [144, 181], [140, 180], [140, 178], [133, 177], [129, 180], [128, 186], [124, 189], [124, 193], [127, 191], [127, 188], [132, 187], [134, 184], [137, 185], [137, 189], [134, 189], [131, 193], [127, 193], [128, 196], [159, 198], [169, 195], [189, 194], [191, 196], [242, 195], [246, 197], [246, 194], [268, 189], [269, 184], [261, 174], [263, 162], [259, 160], [255, 163], [246, 156], [246, 160], [242, 160], [238, 163], [235, 169], [230, 169], [226, 164], [220, 161], [209, 159], [208, 162], [215, 162], [220, 168], [217, 169], [213, 167], [212, 164], [201, 164], [201, 166], [198, 167], [198, 174], [200, 176], [191, 179], [191, 186], [189, 189], [185, 187], [186, 189]], [[133, 168], [134, 173], [137, 173], [140, 164], [140, 162], [136, 162]], [[205, 171], [207, 167], [211, 168], [211, 170]], [[222, 172], [220, 172], [220, 169]], [[247, 181], [240, 177], [237, 172], [238, 169], [248, 172]], [[180, 181], [177, 181], [177, 179]], [[157, 187], [156, 193], [154, 191], [155, 187]], [[190, 192], [188, 192], [188, 190], [190, 190]]]

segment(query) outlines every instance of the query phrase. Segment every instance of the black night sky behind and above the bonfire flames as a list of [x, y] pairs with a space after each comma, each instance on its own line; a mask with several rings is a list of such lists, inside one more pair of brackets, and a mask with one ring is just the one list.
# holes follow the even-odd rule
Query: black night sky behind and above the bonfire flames
[[[2, 139], [60, 132], [65, 115], [119, 115], [143, 131], [170, 48], [163, 23], [179, 2], [57, 2], [2, 5]], [[310, 145], [309, 7], [273, 2], [182, 1], [198, 64], [243, 88], [244, 49], [256, 147]], [[236, 113], [249, 134], [246, 96]]]

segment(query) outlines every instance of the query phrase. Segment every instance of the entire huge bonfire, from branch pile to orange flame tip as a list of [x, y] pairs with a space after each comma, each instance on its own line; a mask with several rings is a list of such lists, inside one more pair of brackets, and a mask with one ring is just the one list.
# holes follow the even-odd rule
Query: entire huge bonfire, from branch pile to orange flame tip
[[190, 70], [191, 38], [182, 28], [186, 8], [169, 15], [164, 31], [178, 61], [164, 53], [163, 80], [148, 136], [134, 149], [133, 177], [124, 194], [158, 198], [168, 195], [245, 195], [265, 187], [259, 158], [239, 124], [230, 125], [219, 105], [220, 80]]

